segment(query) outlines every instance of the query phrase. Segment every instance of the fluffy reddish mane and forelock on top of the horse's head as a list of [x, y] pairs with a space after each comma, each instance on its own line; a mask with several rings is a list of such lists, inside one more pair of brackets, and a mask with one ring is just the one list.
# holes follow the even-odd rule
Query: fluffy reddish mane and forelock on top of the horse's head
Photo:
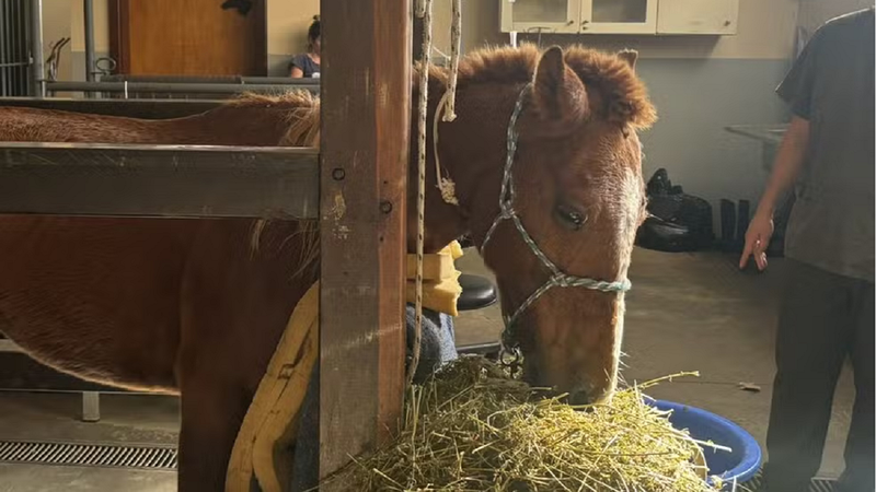
[[[486, 47], [470, 52], [459, 63], [458, 87], [480, 83], [527, 83], [535, 74], [542, 50], [532, 44], [519, 48], [510, 46]], [[657, 120], [657, 110], [648, 98], [644, 82], [622, 58], [583, 46], [563, 48], [566, 65], [578, 75], [590, 93], [602, 101], [603, 118], [645, 129]], [[431, 67], [429, 79], [446, 86], [449, 71]], [[416, 86], [414, 87], [416, 91]]]

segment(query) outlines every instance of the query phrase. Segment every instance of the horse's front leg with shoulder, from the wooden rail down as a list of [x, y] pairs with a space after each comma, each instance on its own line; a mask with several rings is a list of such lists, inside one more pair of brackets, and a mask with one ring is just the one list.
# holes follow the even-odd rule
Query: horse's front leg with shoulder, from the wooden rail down
[[[296, 224], [267, 227], [258, 255], [246, 221], [205, 224], [181, 289], [180, 492], [221, 492], [240, 426], [298, 300]], [[277, 245], [277, 246], [274, 246]], [[283, 247], [290, 250], [283, 249]], [[292, 281], [291, 279], [296, 279]]]

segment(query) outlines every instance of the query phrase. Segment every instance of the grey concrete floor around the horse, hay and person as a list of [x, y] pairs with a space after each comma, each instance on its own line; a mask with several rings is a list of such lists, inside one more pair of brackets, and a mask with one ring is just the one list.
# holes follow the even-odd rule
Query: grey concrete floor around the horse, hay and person
[[[458, 262], [485, 273], [474, 251]], [[763, 445], [773, 375], [775, 300], [783, 273], [781, 259], [768, 272], [741, 273], [736, 258], [718, 253], [664, 254], [636, 249], [627, 296], [623, 377], [643, 382], [681, 371], [701, 377], [653, 388], [656, 398], [701, 407], [746, 427]], [[494, 341], [500, 331], [498, 306], [464, 313], [457, 320], [458, 344]], [[842, 470], [842, 446], [854, 389], [843, 374], [834, 405], [821, 475]], [[759, 385], [744, 391], [739, 383]], [[76, 395], [0, 393], [0, 440], [172, 443], [177, 401], [159, 396], [102, 396], [102, 420], [78, 420]], [[0, 465], [0, 492], [131, 491], [170, 492], [166, 471]]]

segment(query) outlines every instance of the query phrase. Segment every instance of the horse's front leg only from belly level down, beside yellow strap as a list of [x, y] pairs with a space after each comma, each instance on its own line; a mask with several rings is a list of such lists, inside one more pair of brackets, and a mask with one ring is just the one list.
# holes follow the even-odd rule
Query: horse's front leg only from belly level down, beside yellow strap
[[222, 492], [231, 449], [251, 398], [243, 388], [209, 372], [181, 376], [178, 491]]

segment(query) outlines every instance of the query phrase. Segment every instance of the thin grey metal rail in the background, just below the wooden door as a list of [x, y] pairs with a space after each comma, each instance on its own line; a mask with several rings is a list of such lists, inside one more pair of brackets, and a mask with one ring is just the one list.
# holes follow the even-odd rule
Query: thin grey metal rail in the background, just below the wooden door
[[[290, 79], [293, 80], [293, 79]], [[177, 82], [46, 82], [50, 92], [112, 92], [165, 94], [238, 94], [242, 92], [284, 93], [292, 89], [320, 92], [319, 83], [232, 84], [232, 83], [177, 83]]]

